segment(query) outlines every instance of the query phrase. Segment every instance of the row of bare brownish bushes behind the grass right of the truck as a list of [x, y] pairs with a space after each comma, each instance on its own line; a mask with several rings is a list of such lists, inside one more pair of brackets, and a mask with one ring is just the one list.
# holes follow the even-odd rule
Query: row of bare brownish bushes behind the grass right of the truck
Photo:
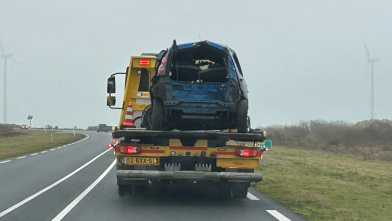
[[260, 128], [275, 145], [354, 154], [392, 161], [392, 121], [302, 121], [297, 125]]

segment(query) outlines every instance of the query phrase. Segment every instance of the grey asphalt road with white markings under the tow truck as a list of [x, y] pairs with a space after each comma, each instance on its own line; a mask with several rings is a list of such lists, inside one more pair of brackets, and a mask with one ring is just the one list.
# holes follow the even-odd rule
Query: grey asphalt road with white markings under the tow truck
[[305, 220], [254, 188], [245, 199], [177, 189], [119, 197], [110, 134], [85, 134], [0, 161], [0, 220]]

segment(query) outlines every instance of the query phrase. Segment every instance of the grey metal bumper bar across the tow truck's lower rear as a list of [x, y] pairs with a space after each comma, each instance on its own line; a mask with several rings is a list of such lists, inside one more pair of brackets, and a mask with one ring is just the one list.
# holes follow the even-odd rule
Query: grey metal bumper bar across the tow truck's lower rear
[[145, 178], [170, 180], [227, 180], [229, 182], [259, 182], [262, 173], [203, 172], [203, 171], [148, 171], [117, 170], [117, 178]]

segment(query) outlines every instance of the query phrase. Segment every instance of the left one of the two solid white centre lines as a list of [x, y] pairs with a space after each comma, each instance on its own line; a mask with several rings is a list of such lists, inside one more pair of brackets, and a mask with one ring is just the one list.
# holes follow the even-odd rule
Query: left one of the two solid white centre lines
[[61, 182], [63, 182], [64, 180], [70, 178], [72, 175], [74, 175], [75, 173], [79, 172], [81, 169], [85, 168], [86, 166], [88, 166], [90, 163], [94, 162], [96, 159], [98, 159], [100, 156], [104, 155], [105, 153], [107, 153], [110, 149], [105, 150], [104, 152], [100, 153], [98, 156], [94, 157], [92, 160], [88, 161], [87, 163], [85, 163], [83, 166], [79, 167], [78, 169], [74, 170], [73, 172], [71, 172], [70, 174], [68, 174], [67, 176], [59, 179], [58, 181], [54, 182], [53, 184], [47, 186], [46, 188], [34, 193], [33, 195], [27, 197], [26, 199], [20, 201], [19, 203], [11, 206], [10, 208], [4, 210], [3, 212], [0, 213], [0, 218], [7, 215], [8, 213], [14, 211], [15, 209], [17, 209], [18, 207], [24, 205], [25, 203], [29, 202], [30, 200], [36, 198], [37, 196], [45, 193], [46, 191], [52, 189], [53, 187], [57, 186], [58, 184], [60, 184]]

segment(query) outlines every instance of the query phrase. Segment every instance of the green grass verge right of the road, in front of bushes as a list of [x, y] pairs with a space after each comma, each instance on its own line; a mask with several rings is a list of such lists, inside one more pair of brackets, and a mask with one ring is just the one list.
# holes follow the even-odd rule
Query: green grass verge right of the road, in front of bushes
[[257, 189], [308, 220], [392, 220], [392, 163], [274, 147]]

